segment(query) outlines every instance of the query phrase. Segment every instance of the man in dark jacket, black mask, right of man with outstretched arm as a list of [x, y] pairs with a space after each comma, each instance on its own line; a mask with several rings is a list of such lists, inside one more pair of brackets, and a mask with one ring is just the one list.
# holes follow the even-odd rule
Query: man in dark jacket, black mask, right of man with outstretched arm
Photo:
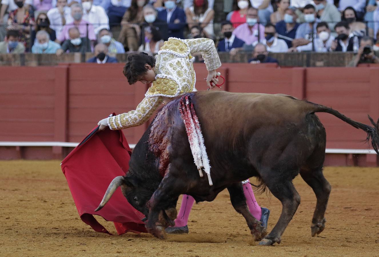
[[[333, 41], [331, 49], [337, 52], [353, 51], [354, 38], [357, 36], [349, 33], [349, 23], [338, 22], [334, 26], [334, 30], [338, 36]], [[360, 38], [357, 37], [356, 41], [359, 42]]]

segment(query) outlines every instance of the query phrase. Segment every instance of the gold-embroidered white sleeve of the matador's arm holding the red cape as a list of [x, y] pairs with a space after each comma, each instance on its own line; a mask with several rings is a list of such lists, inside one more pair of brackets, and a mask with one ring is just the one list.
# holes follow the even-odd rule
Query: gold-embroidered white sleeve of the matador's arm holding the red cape
[[144, 98], [133, 111], [108, 118], [110, 129], [125, 129], [145, 123], [158, 106], [163, 102], [163, 97]]

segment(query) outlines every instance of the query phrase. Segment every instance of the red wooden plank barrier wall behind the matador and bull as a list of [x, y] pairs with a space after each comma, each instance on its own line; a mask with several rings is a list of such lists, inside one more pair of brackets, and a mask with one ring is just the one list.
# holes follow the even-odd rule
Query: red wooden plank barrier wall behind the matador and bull
[[[63, 64], [50, 67], [0, 67], [0, 141], [80, 142], [111, 112], [135, 109], [147, 86], [130, 86], [122, 74], [124, 64]], [[194, 64], [197, 90], [206, 90], [205, 64]], [[276, 64], [226, 63], [218, 69], [229, 92], [284, 93], [330, 106], [369, 124], [367, 114], [379, 117], [379, 67], [279, 68]], [[367, 149], [363, 131], [330, 114], [318, 114], [327, 132], [327, 148]], [[151, 119], [150, 119], [151, 121]], [[129, 143], [137, 143], [143, 126], [125, 129]], [[0, 147], [0, 159], [60, 158], [61, 147]], [[338, 156], [338, 157], [337, 157]], [[328, 159], [329, 158], [329, 159]], [[377, 163], [377, 156], [330, 155], [326, 163]]]

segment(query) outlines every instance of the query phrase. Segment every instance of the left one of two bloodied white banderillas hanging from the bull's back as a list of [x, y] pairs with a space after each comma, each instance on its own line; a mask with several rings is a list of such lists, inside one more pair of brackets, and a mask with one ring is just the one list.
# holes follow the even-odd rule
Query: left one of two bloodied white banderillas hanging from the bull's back
[[188, 136], [188, 141], [189, 141], [189, 146], [191, 148], [191, 153], [194, 157], [194, 162], [197, 166], [197, 170], [199, 171], [200, 177], [203, 177], [202, 173], [202, 161], [201, 161], [201, 150], [199, 148], [199, 140], [195, 131], [195, 125], [193, 123], [192, 117], [191, 117], [191, 111], [189, 110], [189, 107], [186, 104], [186, 98], [182, 97], [180, 99], [180, 115], [182, 116], [182, 120], [184, 122], [187, 136]]

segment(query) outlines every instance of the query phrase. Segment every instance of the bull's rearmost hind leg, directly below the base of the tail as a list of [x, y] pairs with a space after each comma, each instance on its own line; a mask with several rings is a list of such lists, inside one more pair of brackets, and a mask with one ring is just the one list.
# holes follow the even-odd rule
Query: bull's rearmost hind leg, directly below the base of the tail
[[330, 184], [325, 179], [322, 167], [316, 169], [302, 168], [300, 175], [315, 192], [317, 202], [313, 213], [311, 233], [312, 237], [323, 232], [325, 228], [325, 210], [330, 195]]

